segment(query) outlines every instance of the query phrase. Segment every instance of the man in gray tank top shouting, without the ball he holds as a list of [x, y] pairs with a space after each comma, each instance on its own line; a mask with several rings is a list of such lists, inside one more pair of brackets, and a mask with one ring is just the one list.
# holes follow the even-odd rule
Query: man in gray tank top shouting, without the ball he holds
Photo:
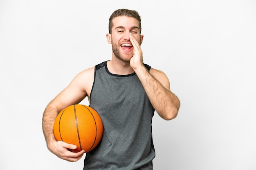
[[99, 145], [86, 153], [84, 169], [153, 169], [154, 111], [171, 120], [177, 116], [180, 101], [170, 91], [166, 74], [143, 63], [143, 37], [137, 11], [119, 9], [112, 13], [106, 35], [112, 44], [112, 60], [77, 74], [44, 111], [43, 132], [52, 153], [67, 161], [83, 156], [84, 150], [72, 153], [69, 149], [75, 145], [56, 141], [53, 124], [62, 109], [88, 96], [104, 129]]

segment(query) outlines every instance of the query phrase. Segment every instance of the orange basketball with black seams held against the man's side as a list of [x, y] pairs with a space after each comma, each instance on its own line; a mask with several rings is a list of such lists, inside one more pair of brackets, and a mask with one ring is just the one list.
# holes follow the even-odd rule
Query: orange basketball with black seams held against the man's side
[[99, 114], [86, 105], [71, 105], [63, 109], [54, 122], [54, 136], [57, 141], [63, 141], [77, 146], [72, 152], [94, 149], [100, 142], [103, 124]]

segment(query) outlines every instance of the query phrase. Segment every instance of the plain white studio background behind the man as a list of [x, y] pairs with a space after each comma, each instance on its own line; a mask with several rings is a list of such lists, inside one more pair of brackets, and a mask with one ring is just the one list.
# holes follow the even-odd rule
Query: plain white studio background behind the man
[[84, 157], [47, 150], [42, 115], [76, 74], [111, 59], [120, 8], [140, 13], [144, 63], [181, 101], [174, 120], [153, 118], [154, 168], [256, 170], [254, 0], [0, 0], [0, 170], [83, 169]]

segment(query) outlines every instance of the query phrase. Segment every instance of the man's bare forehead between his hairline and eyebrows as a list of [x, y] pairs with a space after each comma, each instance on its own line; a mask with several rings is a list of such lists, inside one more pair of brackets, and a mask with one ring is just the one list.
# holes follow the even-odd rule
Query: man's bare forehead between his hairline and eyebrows
[[139, 21], [134, 17], [127, 17], [127, 16], [119, 16], [115, 17], [113, 20], [113, 28], [116, 27], [124, 27], [124, 28], [131, 28], [131, 27], [138, 27], [139, 28]]

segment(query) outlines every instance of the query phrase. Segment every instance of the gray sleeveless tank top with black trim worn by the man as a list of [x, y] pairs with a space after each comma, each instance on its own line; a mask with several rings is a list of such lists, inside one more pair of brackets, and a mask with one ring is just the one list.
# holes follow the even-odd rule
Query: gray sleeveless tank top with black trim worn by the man
[[98, 146], [86, 153], [84, 170], [153, 169], [155, 109], [135, 73], [112, 74], [106, 63], [95, 66], [90, 94], [90, 107], [103, 122], [103, 136]]

